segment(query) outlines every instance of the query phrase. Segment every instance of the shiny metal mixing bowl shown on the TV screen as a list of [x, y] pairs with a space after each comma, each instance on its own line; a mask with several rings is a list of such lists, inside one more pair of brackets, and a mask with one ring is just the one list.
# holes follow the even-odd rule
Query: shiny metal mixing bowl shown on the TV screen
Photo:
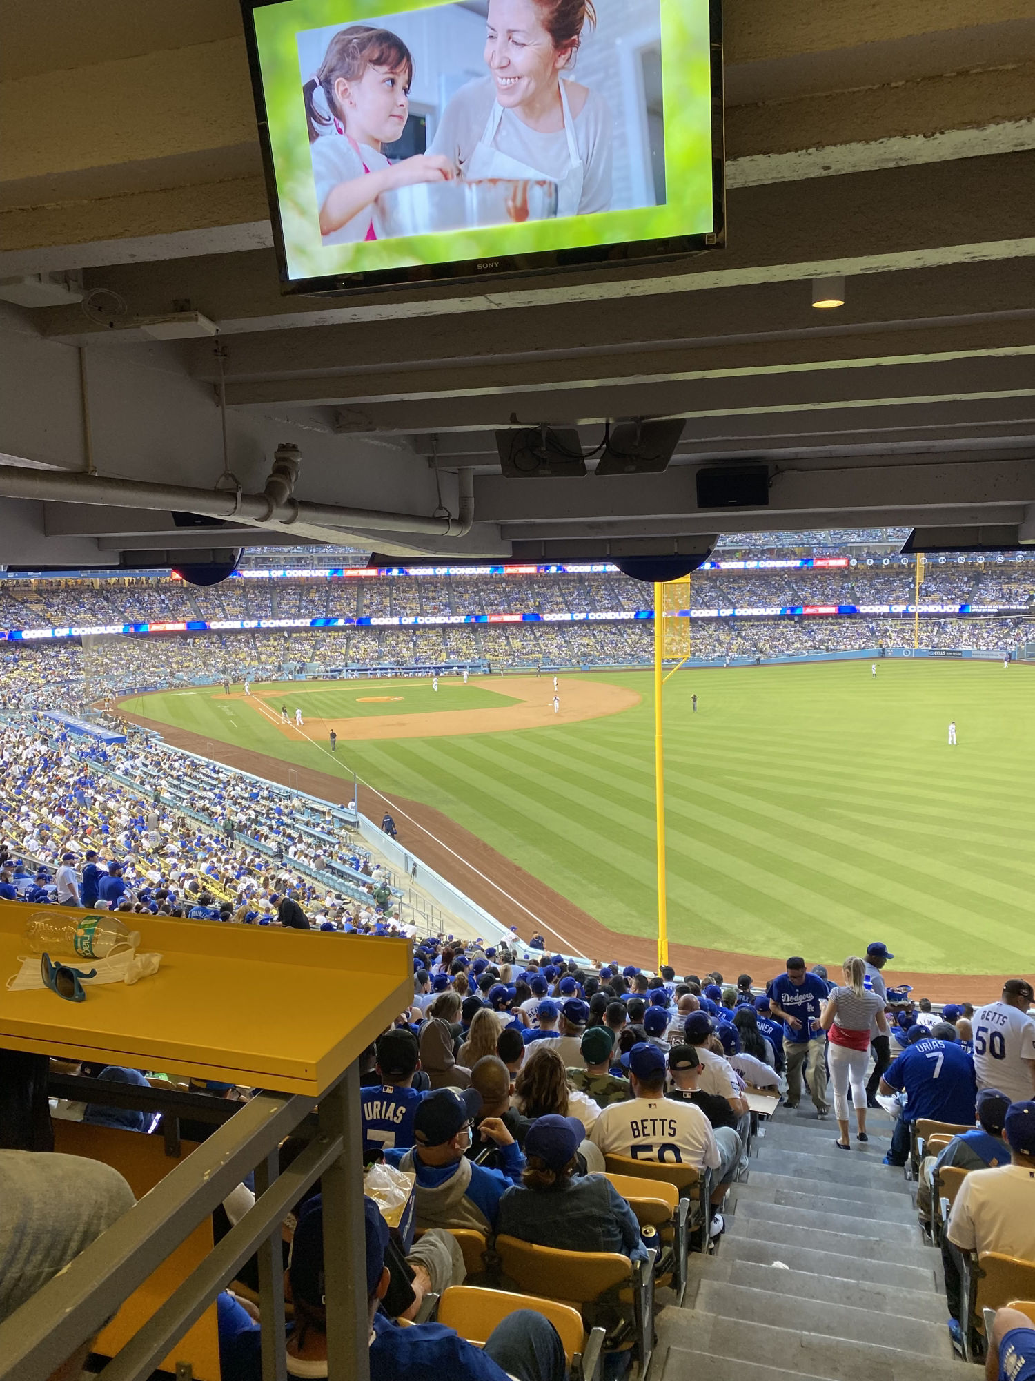
[[483, 178], [464, 182], [414, 182], [377, 199], [384, 233], [433, 235], [482, 225], [546, 221], [558, 214], [558, 184], [531, 178]]

